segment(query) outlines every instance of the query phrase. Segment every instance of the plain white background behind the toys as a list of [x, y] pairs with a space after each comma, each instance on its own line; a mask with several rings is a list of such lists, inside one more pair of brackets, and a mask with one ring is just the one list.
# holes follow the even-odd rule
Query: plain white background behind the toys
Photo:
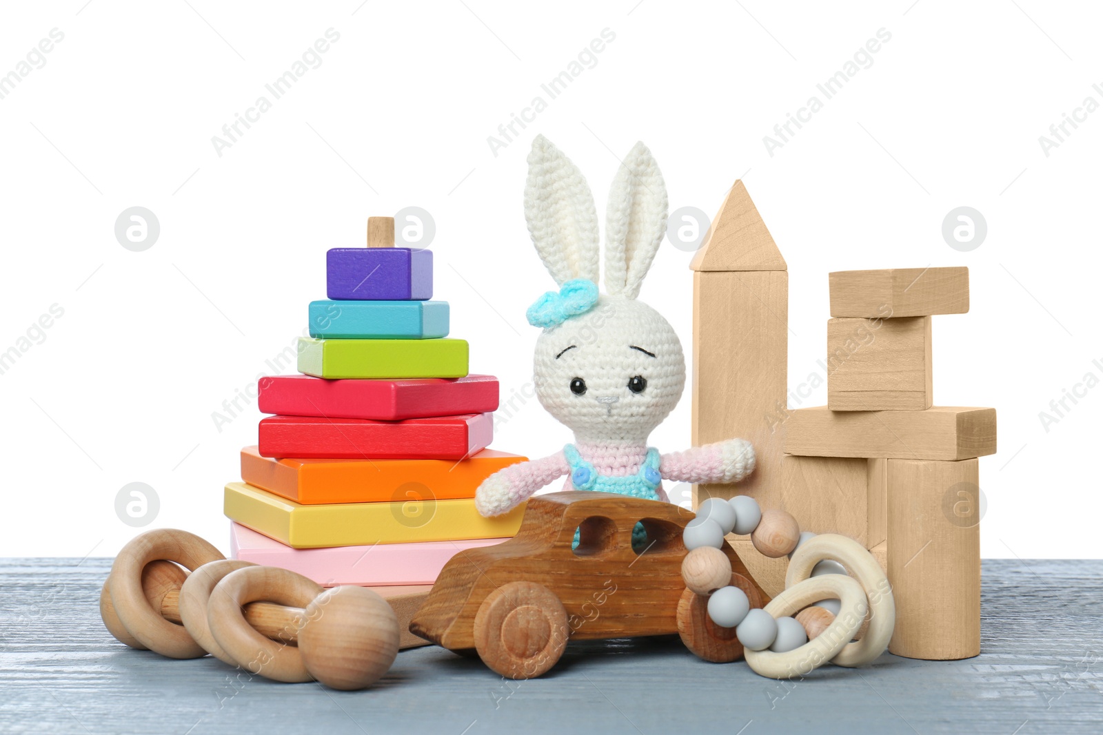
[[[64, 316], [0, 375], [0, 555], [109, 555], [131, 482], [153, 525], [224, 551], [222, 487], [255, 443], [255, 403], [212, 420], [324, 298], [324, 253], [364, 220], [436, 218], [436, 294], [471, 369], [529, 380], [525, 307], [552, 281], [525, 229], [525, 155], [543, 132], [604, 193], [644, 140], [672, 209], [714, 214], [742, 176], [789, 262], [790, 383], [815, 369], [827, 272], [970, 267], [972, 311], [935, 317], [935, 401], [994, 406], [982, 458], [985, 556], [1099, 556], [1103, 388], [1058, 423], [1039, 412], [1103, 378], [1097, 167], [1103, 111], [1045, 155], [1039, 136], [1103, 102], [1101, 19], [1088, 3], [118, 2], [8, 6], [0, 74], [51, 29], [64, 40], [0, 99], [0, 352], [52, 304]], [[211, 142], [326, 29], [340, 41], [231, 148]], [[878, 29], [891, 40], [771, 156], [763, 136]], [[520, 138], [488, 145], [603, 29], [615, 40]], [[271, 99], [271, 96], [269, 99]], [[823, 99], [822, 95], [821, 99]], [[1071, 130], [1071, 129], [1070, 129]], [[941, 225], [977, 208], [988, 235], [951, 249]], [[114, 226], [156, 213], [143, 252]], [[690, 255], [665, 244], [642, 299], [690, 342]], [[24, 343], [25, 345], [25, 343]], [[821, 388], [805, 404], [826, 402]], [[653, 435], [688, 444], [689, 397]], [[539, 456], [569, 441], [535, 400], [495, 446]]]

